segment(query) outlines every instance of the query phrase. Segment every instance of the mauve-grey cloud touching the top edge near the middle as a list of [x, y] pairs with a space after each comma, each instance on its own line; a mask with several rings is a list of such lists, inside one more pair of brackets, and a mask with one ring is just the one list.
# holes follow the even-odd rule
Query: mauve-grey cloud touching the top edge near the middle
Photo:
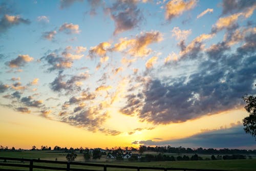
[[143, 15], [137, 8], [137, 1], [118, 1], [107, 9], [115, 22], [114, 35], [137, 27]]

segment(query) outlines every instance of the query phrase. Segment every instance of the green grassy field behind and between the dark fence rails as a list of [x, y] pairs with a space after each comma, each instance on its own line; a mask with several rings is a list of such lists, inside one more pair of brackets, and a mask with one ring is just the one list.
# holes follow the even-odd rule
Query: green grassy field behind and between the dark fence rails
[[[201, 155], [200, 155], [201, 156]], [[66, 153], [58, 152], [38, 152], [38, 151], [23, 151], [23, 152], [0, 152], [0, 157], [12, 157], [12, 158], [28, 158], [41, 160], [55, 160], [66, 161]], [[76, 161], [83, 161], [81, 154], [78, 154]], [[2, 162], [2, 161], [0, 161]], [[256, 159], [246, 160], [203, 160], [203, 161], [163, 161], [163, 162], [129, 162], [129, 161], [109, 161], [106, 162], [105, 156], [102, 156], [100, 160], [91, 161], [91, 163], [98, 164], [113, 164], [113, 165], [129, 165], [129, 166], [150, 166], [150, 167], [179, 167], [179, 168], [208, 168], [208, 169], [226, 169], [226, 170], [241, 170], [241, 171], [254, 171], [256, 170]], [[26, 163], [25, 163], [26, 164]], [[38, 163], [37, 165], [40, 165]], [[42, 163], [45, 164], [45, 163]], [[53, 166], [53, 164], [48, 164]], [[56, 166], [56, 165], [54, 165]], [[62, 165], [63, 166], [63, 165]], [[61, 167], [61, 165], [60, 165]], [[65, 167], [65, 166], [63, 166]], [[2, 168], [2, 167], [0, 167]], [[78, 166], [76, 168], [81, 168]], [[93, 167], [87, 167], [93, 168]], [[44, 170], [44, 169], [34, 169]], [[133, 169], [108, 169], [108, 170], [133, 170]]]

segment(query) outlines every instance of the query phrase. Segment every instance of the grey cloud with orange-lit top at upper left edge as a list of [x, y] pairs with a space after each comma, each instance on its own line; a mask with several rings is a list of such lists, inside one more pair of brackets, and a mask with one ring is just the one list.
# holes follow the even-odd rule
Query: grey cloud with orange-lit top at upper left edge
[[30, 24], [29, 19], [24, 19], [19, 15], [4, 15], [0, 20], [0, 33], [7, 31], [7, 29], [20, 24]]

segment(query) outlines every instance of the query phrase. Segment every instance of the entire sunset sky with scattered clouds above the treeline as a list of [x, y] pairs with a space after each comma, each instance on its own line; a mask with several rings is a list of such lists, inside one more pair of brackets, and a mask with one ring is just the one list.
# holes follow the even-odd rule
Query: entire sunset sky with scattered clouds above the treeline
[[255, 149], [256, 1], [0, 1], [0, 145]]

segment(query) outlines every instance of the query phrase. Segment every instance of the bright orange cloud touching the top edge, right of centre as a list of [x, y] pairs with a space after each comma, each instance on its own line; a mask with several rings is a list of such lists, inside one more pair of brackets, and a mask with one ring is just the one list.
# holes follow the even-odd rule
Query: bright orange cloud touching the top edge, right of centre
[[172, 0], [165, 5], [165, 18], [172, 20], [174, 17], [181, 15], [183, 12], [193, 9], [197, 4], [196, 0]]

